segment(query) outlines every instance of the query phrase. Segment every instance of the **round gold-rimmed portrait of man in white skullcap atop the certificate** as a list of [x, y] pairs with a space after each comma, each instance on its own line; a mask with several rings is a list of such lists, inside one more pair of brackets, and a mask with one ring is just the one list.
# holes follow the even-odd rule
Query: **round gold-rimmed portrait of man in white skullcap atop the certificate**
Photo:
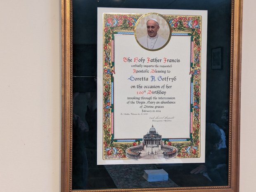
[[142, 15], [135, 25], [135, 39], [140, 47], [149, 51], [164, 48], [171, 39], [171, 26], [158, 13]]

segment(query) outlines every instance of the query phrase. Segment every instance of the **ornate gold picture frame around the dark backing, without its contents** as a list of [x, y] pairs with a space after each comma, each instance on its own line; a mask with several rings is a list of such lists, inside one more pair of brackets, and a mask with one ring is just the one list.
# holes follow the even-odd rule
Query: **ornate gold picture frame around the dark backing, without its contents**
[[[95, 0], [96, 1], [96, 0]], [[203, 187], [136, 188], [136, 189], [72, 189], [73, 145], [73, 6], [72, 0], [62, 0], [62, 192], [118, 192], [118, 191], [173, 191], [173, 192], [238, 192], [239, 191], [239, 129], [240, 129], [240, 76], [242, 38], [242, 0], [231, 2], [230, 34], [230, 94], [228, 133], [228, 185]]]

